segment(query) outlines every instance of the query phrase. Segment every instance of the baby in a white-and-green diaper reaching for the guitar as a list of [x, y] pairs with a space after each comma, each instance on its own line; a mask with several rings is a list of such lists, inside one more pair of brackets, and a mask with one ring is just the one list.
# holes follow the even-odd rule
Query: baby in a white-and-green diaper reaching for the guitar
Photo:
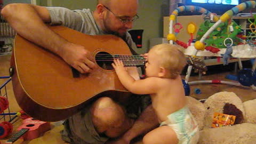
[[143, 137], [143, 143], [197, 143], [198, 125], [186, 106], [180, 73], [187, 61], [179, 47], [159, 44], [145, 54], [146, 78], [135, 81], [115, 59], [112, 66], [124, 87], [135, 94], [150, 94], [160, 126]]

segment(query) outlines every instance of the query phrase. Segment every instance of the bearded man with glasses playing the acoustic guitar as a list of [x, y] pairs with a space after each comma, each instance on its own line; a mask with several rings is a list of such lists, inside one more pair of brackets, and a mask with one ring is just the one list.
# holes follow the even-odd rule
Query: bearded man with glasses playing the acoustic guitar
[[[93, 12], [89, 9], [71, 11], [63, 7], [9, 4], [1, 14], [22, 37], [58, 54], [84, 74], [96, 67], [91, 52], [81, 45], [66, 41], [45, 23], [63, 25], [90, 35], [114, 34], [132, 47], [127, 30], [132, 28], [132, 21], [138, 17], [137, 9], [137, 0], [98, 0]], [[108, 97], [96, 100], [68, 118], [62, 138], [71, 143], [130, 143], [139, 134], [157, 126], [158, 121], [151, 106], [143, 110], [134, 122], [127, 116], [129, 109], [118, 103]], [[117, 137], [115, 141], [109, 140]]]

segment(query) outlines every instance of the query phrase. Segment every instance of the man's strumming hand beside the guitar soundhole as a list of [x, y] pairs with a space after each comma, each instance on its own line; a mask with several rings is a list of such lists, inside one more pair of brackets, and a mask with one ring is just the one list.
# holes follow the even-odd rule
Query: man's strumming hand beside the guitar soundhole
[[69, 46], [63, 47], [60, 56], [80, 73], [90, 73], [96, 68], [95, 60], [90, 51], [84, 46], [70, 43]]

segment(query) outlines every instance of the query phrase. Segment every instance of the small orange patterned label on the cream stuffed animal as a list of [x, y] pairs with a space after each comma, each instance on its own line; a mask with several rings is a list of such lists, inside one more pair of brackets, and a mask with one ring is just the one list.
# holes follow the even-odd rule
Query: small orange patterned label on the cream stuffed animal
[[233, 116], [233, 115], [214, 113], [212, 128], [233, 125], [235, 122], [235, 119], [236, 119], [236, 116]]

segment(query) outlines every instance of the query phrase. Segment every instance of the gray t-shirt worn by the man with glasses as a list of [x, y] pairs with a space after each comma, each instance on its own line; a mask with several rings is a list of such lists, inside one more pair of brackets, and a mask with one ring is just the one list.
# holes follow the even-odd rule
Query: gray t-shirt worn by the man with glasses
[[[107, 35], [95, 22], [90, 9], [69, 10], [65, 7], [46, 8], [51, 16], [50, 25], [66, 26], [87, 35]], [[137, 54], [133, 50], [136, 45], [128, 32], [126, 32], [124, 41], [130, 47], [132, 54]]]

